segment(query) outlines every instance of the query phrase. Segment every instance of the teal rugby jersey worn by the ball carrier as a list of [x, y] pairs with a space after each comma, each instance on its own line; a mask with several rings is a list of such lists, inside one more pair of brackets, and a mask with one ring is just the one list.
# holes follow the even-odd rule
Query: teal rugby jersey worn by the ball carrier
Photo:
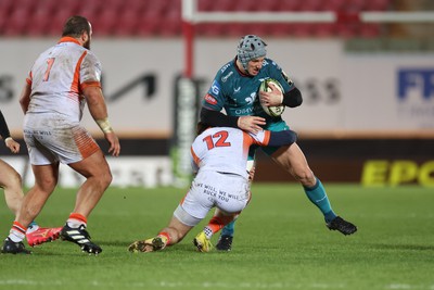
[[283, 73], [282, 68], [270, 59], [264, 59], [263, 67], [256, 76], [242, 74], [235, 60], [224, 65], [216, 74], [202, 105], [205, 109], [220, 112], [225, 109], [229, 116], [261, 116], [270, 123], [281, 122], [281, 117], [271, 117], [264, 112], [259, 103], [258, 89], [264, 79], [278, 80], [283, 91], [290, 91], [294, 84]]

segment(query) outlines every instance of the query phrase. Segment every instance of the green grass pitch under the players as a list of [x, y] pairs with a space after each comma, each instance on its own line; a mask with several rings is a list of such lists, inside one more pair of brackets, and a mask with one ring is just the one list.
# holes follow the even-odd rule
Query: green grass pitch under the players
[[[231, 252], [199, 253], [192, 239], [132, 254], [133, 240], [166, 226], [186, 189], [110, 188], [88, 219], [99, 256], [54, 241], [33, 255], [0, 255], [0, 289], [434, 289], [434, 189], [326, 185], [336, 213], [359, 230], [345, 237], [297, 185], [255, 184]], [[56, 189], [37, 222], [62, 226], [75, 190]], [[5, 238], [13, 215], [0, 204]], [[213, 238], [216, 243], [217, 236]]]

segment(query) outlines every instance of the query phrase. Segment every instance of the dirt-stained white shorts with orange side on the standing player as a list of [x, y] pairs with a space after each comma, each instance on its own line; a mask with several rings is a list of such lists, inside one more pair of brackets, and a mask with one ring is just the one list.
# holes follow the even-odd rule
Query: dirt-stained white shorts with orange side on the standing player
[[100, 150], [88, 130], [55, 113], [26, 114], [24, 140], [33, 165], [75, 163]]

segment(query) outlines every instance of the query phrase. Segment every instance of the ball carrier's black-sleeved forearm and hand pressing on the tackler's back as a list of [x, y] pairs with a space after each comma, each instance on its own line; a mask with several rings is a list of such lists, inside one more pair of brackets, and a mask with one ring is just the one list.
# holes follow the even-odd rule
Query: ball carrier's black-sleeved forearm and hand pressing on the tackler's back
[[202, 106], [201, 121], [213, 127], [240, 128], [248, 133], [257, 133], [266, 124], [265, 118], [257, 116], [228, 116], [221, 112], [208, 110]]

